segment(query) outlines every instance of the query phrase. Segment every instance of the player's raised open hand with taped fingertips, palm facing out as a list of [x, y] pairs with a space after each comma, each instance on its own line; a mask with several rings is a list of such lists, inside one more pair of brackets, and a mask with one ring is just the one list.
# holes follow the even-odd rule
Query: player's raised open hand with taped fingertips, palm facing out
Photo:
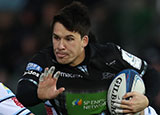
[[45, 68], [44, 73], [42, 73], [39, 78], [37, 94], [38, 98], [41, 100], [53, 99], [65, 90], [63, 87], [57, 89], [56, 83], [60, 72], [58, 71], [53, 75], [54, 70], [54, 66], [50, 69]]

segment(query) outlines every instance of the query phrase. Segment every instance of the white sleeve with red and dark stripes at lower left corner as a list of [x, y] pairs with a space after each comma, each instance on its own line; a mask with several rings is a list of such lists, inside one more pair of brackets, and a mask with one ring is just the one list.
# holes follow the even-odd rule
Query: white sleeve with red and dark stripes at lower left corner
[[13, 92], [0, 83], [0, 115], [29, 115], [26, 109], [15, 97]]

